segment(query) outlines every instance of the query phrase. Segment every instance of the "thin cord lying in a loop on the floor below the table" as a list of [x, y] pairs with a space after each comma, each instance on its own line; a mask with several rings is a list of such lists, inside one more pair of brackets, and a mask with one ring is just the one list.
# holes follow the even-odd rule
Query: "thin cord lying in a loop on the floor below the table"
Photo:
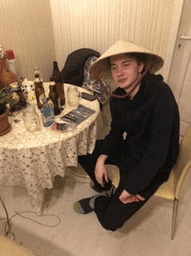
[[58, 222], [57, 222], [56, 225], [46, 225], [46, 224], [43, 224], [43, 223], [41, 223], [41, 222], [39, 222], [39, 221], [36, 221], [35, 219], [31, 219], [31, 218], [29, 218], [29, 217], [26, 217], [26, 216], [23, 216], [23, 215], [22, 215], [23, 213], [34, 213], [34, 214], [36, 214], [36, 212], [30, 212], [30, 211], [26, 211], [26, 212], [16, 212], [16, 211], [15, 211], [16, 214], [14, 214], [13, 216], [11, 216], [11, 217], [9, 218], [7, 209], [6, 209], [5, 205], [3, 204], [3, 200], [1, 199], [1, 197], [0, 197], [0, 200], [1, 200], [1, 203], [2, 203], [2, 205], [3, 205], [4, 211], [5, 211], [5, 213], [6, 213], [6, 218], [3, 218], [3, 219], [7, 219], [7, 222], [6, 222], [5, 226], [4, 226], [5, 236], [8, 236], [8, 234], [11, 233], [13, 240], [15, 239], [15, 234], [14, 234], [14, 232], [10, 232], [10, 229], [11, 229], [10, 219], [13, 219], [13, 218], [16, 217], [16, 216], [23, 217], [24, 219], [30, 219], [31, 221], [36, 222], [37, 224], [39, 224], [39, 225], [41, 225], [41, 226], [48, 226], [48, 227], [55, 227], [55, 226], [58, 226], [58, 225], [60, 224], [60, 222], [61, 222], [61, 219], [60, 219], [58, 216], [56, 216], [55, 214], [43, 214], [43, 216], [56, 217], [56, 218], [58, 219]]

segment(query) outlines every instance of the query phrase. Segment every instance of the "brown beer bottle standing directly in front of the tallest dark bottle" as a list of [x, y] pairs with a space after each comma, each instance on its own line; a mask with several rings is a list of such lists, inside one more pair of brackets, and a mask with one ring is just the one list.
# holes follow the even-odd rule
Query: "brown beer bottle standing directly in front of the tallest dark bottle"
[[55, 116], [59, 115], [61, 113], [59, 108], [59, 94], [56, 90], [56, 83], [53, 77], [49, 78], [49, 100], [53, 104]]

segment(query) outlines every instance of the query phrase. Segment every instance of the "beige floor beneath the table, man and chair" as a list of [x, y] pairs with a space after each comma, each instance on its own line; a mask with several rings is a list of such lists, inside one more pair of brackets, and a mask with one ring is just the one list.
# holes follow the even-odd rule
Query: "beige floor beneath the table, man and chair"
[[[181, 191], [174, 240], [170, 239], [173, 203], [168, 200], [153, 197], [121, 229], [109, 232], [100, 226], [94, 212], [80, 215], [73, 210], [78, 199], [95, 194], [89, 188], [89, 183], [65, 177], [56, 178], [55, 184], [55, 188], [49, 193], [43, 217], [36, 216], [36, 213], [23, 213], [25, 217], [42, 225], [18, 215], [11, 219], [11, 231], [15, 234], [16, 243], [29, 248], [36, 255], [191, 255], [191, 172], [188, 173]], [[9, 217], [16, 212], [36, 211], [36, 207], [30, 205], [24, 188], [1, 185], [0, 196]], [[5, 216], [0, 204], [0, 218]], [[0, 220], [0, 234], [4, 234], [5, 222], [5, 219]]]

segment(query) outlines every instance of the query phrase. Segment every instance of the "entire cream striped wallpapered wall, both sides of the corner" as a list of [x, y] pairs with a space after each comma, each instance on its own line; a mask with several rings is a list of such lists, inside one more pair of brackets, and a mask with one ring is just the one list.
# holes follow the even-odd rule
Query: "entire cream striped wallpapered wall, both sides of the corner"
[[71, 51], [106, 51], [119, 38], [167, 60], [167, 80], [183, 0], [0, 0], [3, 50], [16, 54], [21, 76], [38, 65], [48, 81], [52, 62], [63, 69]]

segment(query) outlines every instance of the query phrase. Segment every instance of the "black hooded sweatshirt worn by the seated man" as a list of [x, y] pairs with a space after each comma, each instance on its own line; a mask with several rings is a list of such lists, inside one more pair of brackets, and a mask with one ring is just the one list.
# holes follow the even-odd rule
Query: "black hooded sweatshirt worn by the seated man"
[[[120, 87], [113, 93], [126, 94]], [[127, 132], [125, 143], [140, 163], [125, 190], [133, 195], [141, 192], [156, 173], [167, 180], [179, 153], [180, 117], [173, 92], [161, 75], [148, 72], [132, 100], [111, 97], [110, 111], [111, 129], [101, 154], [114, 155], [123, 144], [123, 133]]]

